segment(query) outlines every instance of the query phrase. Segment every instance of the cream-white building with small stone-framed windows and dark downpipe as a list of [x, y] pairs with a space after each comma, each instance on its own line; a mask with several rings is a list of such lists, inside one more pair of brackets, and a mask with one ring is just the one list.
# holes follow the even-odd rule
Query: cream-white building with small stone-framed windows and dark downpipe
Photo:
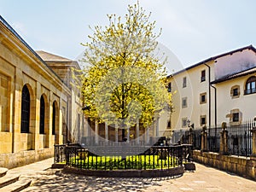
[[237, 124], [254, 112], [256, 50], [252, 45], [213, 56], [168, 77], [172, 130]]

